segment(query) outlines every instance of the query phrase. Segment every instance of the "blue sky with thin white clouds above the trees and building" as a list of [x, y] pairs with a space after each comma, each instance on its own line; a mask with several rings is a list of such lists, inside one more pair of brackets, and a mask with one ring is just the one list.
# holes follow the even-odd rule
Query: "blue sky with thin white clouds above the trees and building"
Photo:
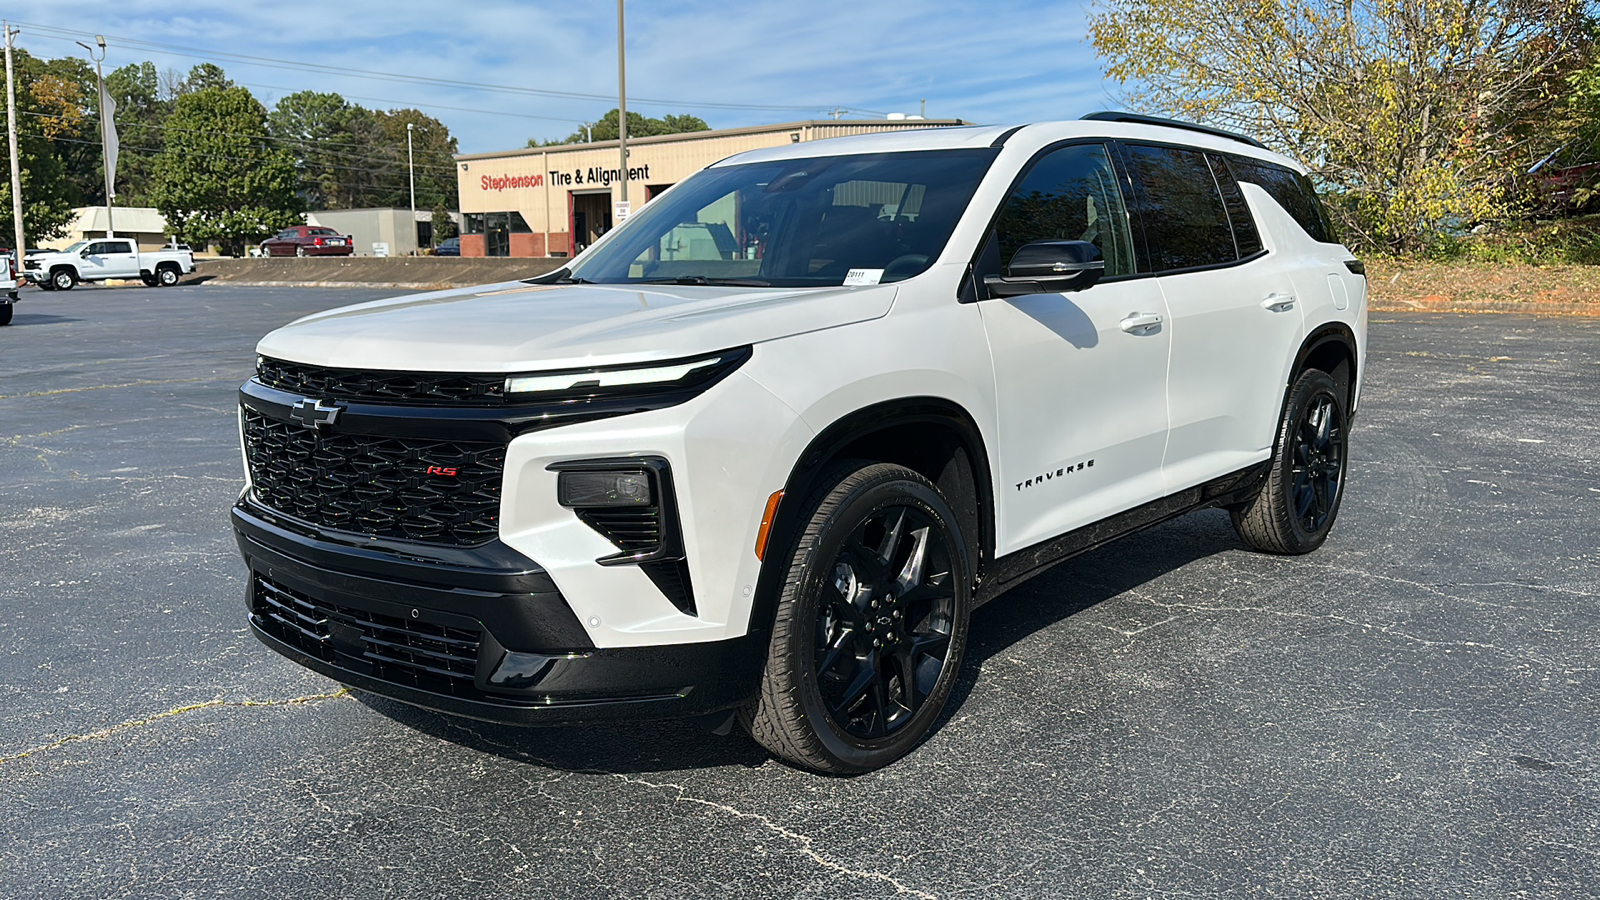
[[[915, 114], [926, 98], [930, 117], [1074, 119], [1118, 106], [1085, 37], [1086, 8], [1078, 0], [635, 0], [627, 8], [629, 109], [736, 128], [822, 119], [835, 106], [862, 110], [848, 117]], [[269, 107], [299, 90], [336, 91], [374, 109], [416, 106], [450, 125], [462, 152], [562, 138], [616, 106], [610, 0], [34, 0], [6, 13], [22, 29], [18, 43], [38, 56], [83, 53], [72, 43], [83, 35], [45, 29], [104, 34], [107, 70], [149, 59], [187, 72], [211, 54]], [[296, 66], [306, 62], [381, 75]]]

